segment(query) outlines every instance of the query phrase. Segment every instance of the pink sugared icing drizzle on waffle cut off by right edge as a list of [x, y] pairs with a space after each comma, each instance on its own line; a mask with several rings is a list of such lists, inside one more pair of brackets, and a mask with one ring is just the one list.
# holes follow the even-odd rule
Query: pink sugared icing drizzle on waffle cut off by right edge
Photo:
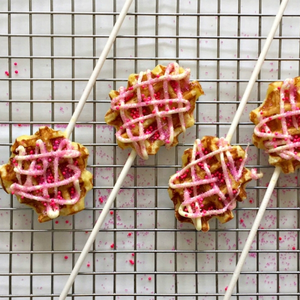
[[[258, 116], [258, 124], [254, 128], [254, 134], [267, 138], [264, 146], [267, 153], [276, 153], [284, 159], [295, 159], [300, 161], [298, 148], [300, 147], [300, 135], [291, 134], [289, 128], [299, 129], [300, 108], [295, 102], [294, 79], [288, 78], [283, 81], [280, 89], [279, 113], [271, 116], [263, 116], [263, 111]], [[290, 110], [286, 111], [284, 105], [290, 104]], [[273, 120], [279, 120], [281, 123], [281, 132], [272, 132], [268, 123]]]

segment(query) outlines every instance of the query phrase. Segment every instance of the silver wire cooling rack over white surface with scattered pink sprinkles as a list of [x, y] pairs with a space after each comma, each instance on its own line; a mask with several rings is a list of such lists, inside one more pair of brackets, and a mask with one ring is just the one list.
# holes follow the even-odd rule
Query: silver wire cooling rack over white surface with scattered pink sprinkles
[[[0, 1], [0, 163], [15, 137], [40, 125], [63, 130], [123, 0]], [[0, 189], [0, 299], [57, 299], [129, 150], [104, 122], [108, 92], [131, 72], [177, 61], [205, 92], [178, 146], [136, 158], [68, 299], [221, 299], [273, 171], [251, 144], [248, 113], [267, 84], [299, 74], [300, 10], [290, 0], [233, 137], [250, 142], [264, 177], [226, 224], [197, 232], [174, 218], [168, 178], [203, 135], [224, 136], [279, 0], [133, 2], [73, 131], [90, 152], [94, 188], [84, 211], [38, 223]], [[16, 63], [16, 64], [15, 64]], [[5, 73], [7, 71], [9, 74]], [[298, 299], [299, 172], [280, 175], [232, 299]]]

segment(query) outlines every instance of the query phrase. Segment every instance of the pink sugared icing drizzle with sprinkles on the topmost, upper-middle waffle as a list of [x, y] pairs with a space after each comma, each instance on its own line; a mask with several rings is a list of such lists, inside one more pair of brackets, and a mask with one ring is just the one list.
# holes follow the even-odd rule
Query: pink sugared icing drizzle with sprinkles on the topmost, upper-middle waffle
[[[172, 74], [170, 74], [172, 72]], [[143, 72], [140, 72], [137, 78], [137, 83], [125, 88], [119, 88], [119, 95], [111, 100], [111, 109], [118, 110], [123, 121], [116, 132], [116, 138], [121, 142], [132, 142], [137, 154], [147, 159], [145, 140], [152, 138], [153, 140], [164, 141], [167, 148], [169, 148], [174, 138], [174, 127], [172, 121], [172, 114], [178, 114], [183, 132], [185, 132], [185, 122], [183, 113], [190, 109], [188, 100], [182, 97], [179, 80], [188, 80], [190, 69], [185, 69], [184, 72], [179, 73], [179, 65], [175, 62], [168, 64], [165, 73], [161, 76], [151, 77], [151, 71], [146, 71], [147, 80], [141, 81]], [[176, 92], [175, 98], [169, 98], [168, 82]], [[162, 82], [163, 94], [155, 92], [154, 84]], [[147, 91], [148, 96], [144, 93]], [[136, 93], [136, 103], [126, 103]], [[176, 106], [176, 107], [175, 107]], [[148, 119], [155, 119], [156, 125], [144, 128], [144, 121]], [[138, 128], [138, 135], [136, 131], [134, 134], [132, 130]], [[136, 129], [135, 129], [136, 130]], [[123, 137], [122, 134], [126, 132], [128, 137]]]

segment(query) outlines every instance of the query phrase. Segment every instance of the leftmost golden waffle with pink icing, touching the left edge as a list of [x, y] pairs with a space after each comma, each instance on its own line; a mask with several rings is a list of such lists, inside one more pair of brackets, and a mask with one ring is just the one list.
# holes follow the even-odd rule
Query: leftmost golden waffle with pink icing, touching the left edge
[[[33, 135], [17, 137], [10, 150], [8, 163], [0, 166], [3, 189], [14, 193], [20, 203], [31, 206], [39, 222], [52, 218], [47, 214], [48, 208], [54, 217], [74, 214], [84, 208], [84, 196], [92, 188], [92, 174], [85, 169], [88, 150], [84, 146], [70, 142], [63, 132], [44, 126]], [[63, 180], [69, 182], [62, 184]], [[61, 204], [67, 201], [75, 202]]]

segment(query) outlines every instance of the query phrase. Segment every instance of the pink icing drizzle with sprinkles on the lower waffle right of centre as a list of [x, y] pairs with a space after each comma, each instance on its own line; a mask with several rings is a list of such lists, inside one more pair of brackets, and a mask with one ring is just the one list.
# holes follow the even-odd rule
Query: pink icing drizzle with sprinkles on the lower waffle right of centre
[[[212, 152], [207, 152], [203, 148], [200, 139], [196, 139], [193, 144], [191, 162], [183, 167], [179, 172], [173, 174], [169, 180], [170, 188], [183, 188], [183, 202], [180, 204], [178, 212], [180, 215], [191, 218], [197, 230], [201, 230], [201, 217], [207, 215], [217, 215], [232, 210], [236, 206], [236, 198], [239, 194], [239, 189], [233, 189], [228, 172], [231, 173], [234, 180], [238, 181], [242, 175], [242, 170], [247, 159], [247, 148], [244, 158], [239, 159], [238, 166], [234, 161], [229, 151], [230, 144], [221, 137], [217, 142], [218, 149]], [[211, 173], [209, 169], [209, 158], [214, 155], [220, 156], [221, 172]], [[224, 156], [227, 156], [228, 162], [225, 162]], [[200, 166], [205, 171], [204, 178], [199, 178], [196, 173], [196, 165]], [[191, 181], [183, 183], [174, 183], [175, 180], [184, 179], [187, 173], [190, 172]], [[251, 170], [253, 178], [260, 177], [255, 170]], [[220, 190], [218, 181], [221, 180], [226, 184], [226, 194]], [[210, 185], [210, 189], [205, 192], [198, 193], [197, 187], [200, 185]], [[212, 195], [218, 195], [219, 200], [223, 202], [223, 208], [213, 209], [213, 207], [203, 208], [203, 199]]]

